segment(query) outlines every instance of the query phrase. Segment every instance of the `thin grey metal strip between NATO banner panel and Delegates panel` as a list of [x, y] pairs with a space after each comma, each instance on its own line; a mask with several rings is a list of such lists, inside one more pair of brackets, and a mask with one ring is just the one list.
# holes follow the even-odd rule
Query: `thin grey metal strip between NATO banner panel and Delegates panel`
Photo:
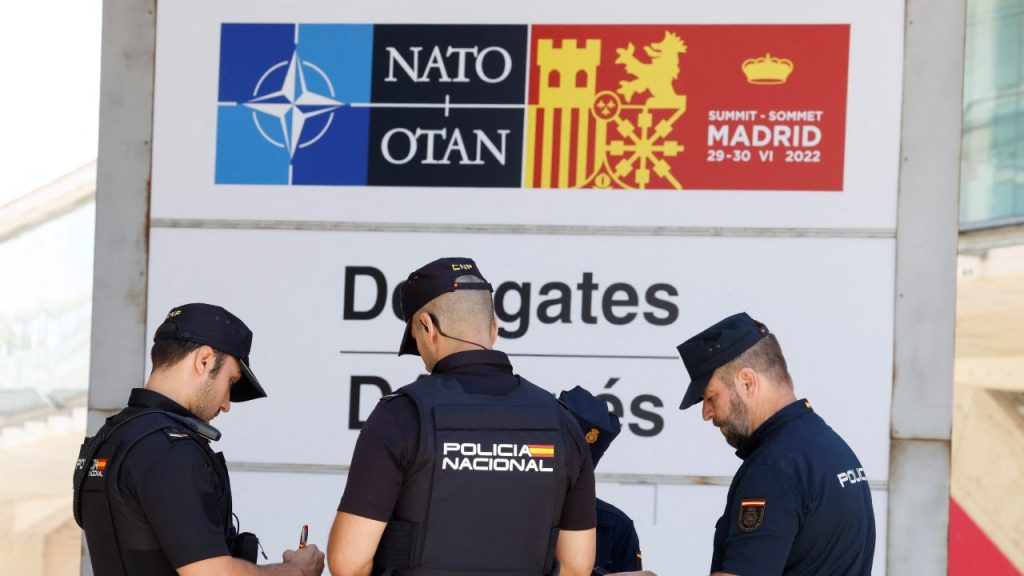
[[870, 238], [894, 239], [896, 229], [726, 228], [568, 224], [468, 224], [427, 222], [353, 222], [333, 220], [259, 220], [153, 218], [156, 229], [291, 230], [413, 234], [494, 234], [549, 236], [729, 237], [729, 238]]

